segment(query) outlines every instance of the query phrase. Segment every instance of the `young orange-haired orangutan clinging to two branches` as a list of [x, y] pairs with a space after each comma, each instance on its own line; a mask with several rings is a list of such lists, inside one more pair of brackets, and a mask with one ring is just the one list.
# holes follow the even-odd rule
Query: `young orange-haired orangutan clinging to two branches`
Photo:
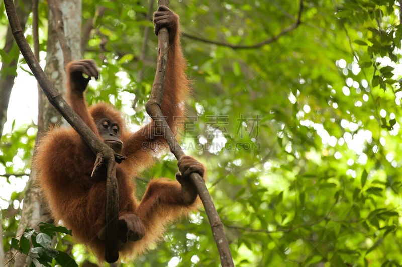
[[[156, 34], [164, 27], [169, 32], [169, 62], [161, 108], [174, 131], [178, 126], [175, 118], [184, 116], [183, 101], [188, 91], [179, 17], [160, 6], [154, 14], [154, 25]], [[91, 77], [98, 78], [94, 61], [71, 62], [66, 72], [67, 100], [74, 111], [101, 140], [127, 157], [116, 168], [119, 250], [122, 256], [129, 257], [143, 253], [163, 237], [168, 223], [196, 208], [197, 191], [189, 176], [192, 172], [203, 176], [204, 166], [192, 157], [182, 157], [178, 161], [177, 181], [151, 180], [139, 202], [131, 179], [153, 163], [155, 151], [149, 147], [164, 145], [163, 137], [154, 133], [153, 122], [135, 133], [129, 132], [122, 114], [111, 105], [87, 107], [83, 92]], [[95, 158], [74, 129], [55, 128], [41, 140], [34, 163], [54, 219], [62, 220], [72, 229], [74, 238], [90, 247], [100, 259], [105, 253], [106, 171], [99, 170], [91, 177]]]

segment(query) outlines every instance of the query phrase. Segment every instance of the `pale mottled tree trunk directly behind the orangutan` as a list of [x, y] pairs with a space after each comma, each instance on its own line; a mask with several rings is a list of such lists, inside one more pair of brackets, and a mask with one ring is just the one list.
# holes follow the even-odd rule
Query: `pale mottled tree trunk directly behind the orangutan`
[[[80, 30], [81, 29], [81, 0], [57, 0], [55, 1], [58, 9], [60, 10], [60, 18], [64, 25], [64, 35], [67, 45], [71, 50], [71, 57], [73, 59], [81, 58], [80, 50]], [[60, 29], [60, 28], [59, 28]], [[47, 57], [45, 73], [49, 80], [53, 82], [55, 87], [60, 92], [65, 92], [65, 71], [62, 47], [59, 43], [59, 36], [57, 33], [57, 25], [54, 19], [54, 14], [49, 11], [49, 29], [47, 41]], [[43, 96], [42, 96], [43, 97]], [[50, 124], [57, 124], [61, 121], [60, 114], [53, 108], [53, 106], [45, 99], [44, 106], [39, 109], [44, 109], [44, 125], [48, 129]], [[41, 135], [42, 133], [38, 133]], [[35, 183], [36, 171], [35, 166], [31, 168], [30, 179], [26, 186], [26, 193], [24, 197], [24, 207], [21, 215], [21, 222], [18, 227], [16, 236], [21, 235], [26, 228], [34, 228], [39, 222], [46, 221], [50, 218], [46, 206], [43, 203], [43, 197], [39, 187]], [[22, 253], [18, 253], [15, 258], [15, 266], [29, 266], [30, 258]]]

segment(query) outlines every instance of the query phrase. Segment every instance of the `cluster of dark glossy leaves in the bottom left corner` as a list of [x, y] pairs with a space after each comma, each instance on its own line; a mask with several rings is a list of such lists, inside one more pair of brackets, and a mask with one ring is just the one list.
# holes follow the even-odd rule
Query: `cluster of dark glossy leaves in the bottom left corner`
[[67, 253], [52, 247], [52, 238], [57, 233], [71, 235], [71, 231], [65, 227], [42, 222], [39, 224], [39, 231], [26, 229], [20, 240], [11, 239], [11, 247], [32, 258], [30, 266], [50, 267], [54, 261], [60, 266], [78, 266]]

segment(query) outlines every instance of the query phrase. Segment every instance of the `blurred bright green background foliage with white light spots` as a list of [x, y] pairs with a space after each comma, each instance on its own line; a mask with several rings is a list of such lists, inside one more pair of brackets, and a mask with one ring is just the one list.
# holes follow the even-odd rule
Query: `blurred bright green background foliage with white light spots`
[[[144, 28], [152, 27], [149, 3], [83, 2], [83, 23], [94, 18], [83, 55], [97, 61], [102, 75], [87, 99], [110, 101], [131, 124], [142, 125], [157, 54], [152, 28], [142, 51]], [[236, 266], [400, 266], [401, 3], [305, 0], [301, 11], [299, 3], [171, 1], [194, 91], [183, 148], [207, 166], [207, 187]], [[40, 1], [45, 52], [47, 9]], [[3, 6], [0, 11], [4, 36], [7, 17]], [[29, 40], [31, 34], [32, 16]], [[28, 69], [22, 59], [19, 67]], [[20, 220], [36, 131], [35, 121], [11, 125], [0, 151], [5, 251]], [[175, 172], [173, 157], [162, 156], [136, 177], [139, 197], [150, 178]], [[59, 241], [61, 249], [66, 244], [71, 239]], [[70, 253], [78, 265], [96, 262], [82, 246]], [[218, 262], [200, 209], [123, 265]]]

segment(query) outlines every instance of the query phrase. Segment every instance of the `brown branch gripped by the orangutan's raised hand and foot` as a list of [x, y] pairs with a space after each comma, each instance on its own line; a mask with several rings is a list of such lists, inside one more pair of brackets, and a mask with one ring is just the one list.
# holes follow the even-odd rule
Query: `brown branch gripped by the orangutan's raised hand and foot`
[[[158, 5], [168, 6], [168, 0], [159, 0]], [[165, 136], [166, 141], [169, 145], [170, 151], [174, 156], [179, 159], [184, 155], [183, 150], [178, 144], [174, 134], [169, 128], [162, 111], [160, 109], [163, 97], [165, 74], [167, 69], [167, 50], [169, 47], [169, 36], [166, 28], [162, 28], [158, 33], [158, 65], [155, 74], [154, 84], [152, 85], [151, 96], [146, 104], [146, 110], [149, 116], [153, 120], [158, 120], [162, 122], [160, 129], [157, 131], [162, 131], [163, 136]], [[205, 211], [207, 213], [208, 219], [210, 221], [212, 233], [218, 247], [218, 252], [221, 260], [222, 266], [234, 266], [232, 255], [229, 249], [229, 243], [226, 238], [225, 232], [223, 230], [223, 224], [219, 218], [218, 212], [215, 209], [214, 203], [212, 202], [211, 196], [205, 186], [203, 178], [198, 173], [192, 173], [190, 176], [192, 182], [197, 188], [199, 197], [203, 202]]]

